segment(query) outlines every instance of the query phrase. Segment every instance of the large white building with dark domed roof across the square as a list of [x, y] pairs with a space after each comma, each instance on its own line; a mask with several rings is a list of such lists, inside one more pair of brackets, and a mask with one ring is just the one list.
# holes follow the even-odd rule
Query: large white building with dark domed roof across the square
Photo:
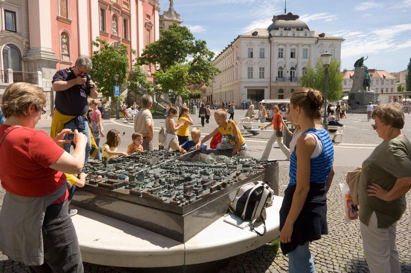
[[238, 35], [214, 60], [220, 70], [207, 87], [210, 101], [287, 99], [301, 87], [309, 63], [326, 51], [341, 60], [343, 38], [310, 30], [292, 13], [274, 16], [267, 29]]

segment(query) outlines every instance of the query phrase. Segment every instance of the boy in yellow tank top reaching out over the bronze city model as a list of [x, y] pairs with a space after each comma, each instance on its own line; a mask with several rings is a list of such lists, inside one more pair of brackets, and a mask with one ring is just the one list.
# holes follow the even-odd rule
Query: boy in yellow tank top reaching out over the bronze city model
[[246, 141], [242, 137], [240, 130], [237, 128], [237, 123], [233, 120], [227, 120], [227, 113], [224, 109], [218, 109], [214, 112], [214, 119], [218, 127], [214, 129], [210, 134], [204, 136], [202, 141], [196, 144], [196, 149], [200, 147], [201, 143], [207, 142], [216, 133], [220, 132], [225, 141], [222, 141], [217, 145], [218, 150], [233, 150], [233, 154], [238, 151], [247, 150]]

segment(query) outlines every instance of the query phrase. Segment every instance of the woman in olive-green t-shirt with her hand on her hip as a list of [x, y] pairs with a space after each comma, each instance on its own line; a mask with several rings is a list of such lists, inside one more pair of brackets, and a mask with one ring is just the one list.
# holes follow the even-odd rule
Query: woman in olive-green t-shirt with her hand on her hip
[[411, 188], [411, 143], [401, 133], [404, 112], [398, 103], [378, 106], [371, 115], [383, 142], [363, 162], [358, 196], [360, 228], [370, 272], [401, 272], [396, 225]]

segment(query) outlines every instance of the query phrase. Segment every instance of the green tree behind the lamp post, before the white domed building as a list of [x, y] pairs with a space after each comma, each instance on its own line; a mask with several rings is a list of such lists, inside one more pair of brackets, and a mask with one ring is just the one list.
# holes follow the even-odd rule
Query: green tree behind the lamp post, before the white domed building
[[[306, 73], [301, 77], [301, 86], [320, 90], [324, 93], [325, 68], [323, 61], [319, 58], [315, 69], [311, 65], [307, 67]], [[328, 67], [327, 99], [338, 101], [343, 97], [343, 75], [340, 72], [340, 62], [331, 60]]]

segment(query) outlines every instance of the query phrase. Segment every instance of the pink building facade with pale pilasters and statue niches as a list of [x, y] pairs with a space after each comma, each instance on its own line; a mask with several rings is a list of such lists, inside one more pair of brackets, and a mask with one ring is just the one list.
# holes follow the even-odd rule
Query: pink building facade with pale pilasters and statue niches
[[[58, 69], [72, 66], [80, 54], [90, 56], [100, 37], [128, 53], [129, 67], [147, 44], [159, 38], [158, 0], [8, 0], [0, 2], [0, 96], [12, 82], [31, 82], [46, 93]], [[145, 67], [153, 80], [154, 67]]]

